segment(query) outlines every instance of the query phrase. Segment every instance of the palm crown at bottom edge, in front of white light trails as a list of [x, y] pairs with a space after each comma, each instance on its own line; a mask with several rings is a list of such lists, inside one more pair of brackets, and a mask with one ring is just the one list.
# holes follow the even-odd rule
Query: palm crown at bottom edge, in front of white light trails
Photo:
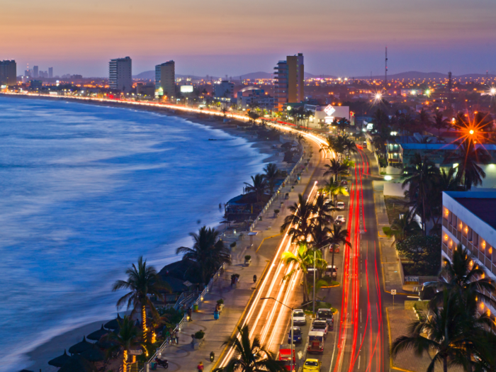
[[276, 361], [274, 356], [255, 337], [249, 339], [247, 325], [238, 327], [239, 337], [233, 337], [226, 343], [234, 346], [235, 356], [223, 368], [216, 368], [213, 372], [284, 372], [283, 362]]

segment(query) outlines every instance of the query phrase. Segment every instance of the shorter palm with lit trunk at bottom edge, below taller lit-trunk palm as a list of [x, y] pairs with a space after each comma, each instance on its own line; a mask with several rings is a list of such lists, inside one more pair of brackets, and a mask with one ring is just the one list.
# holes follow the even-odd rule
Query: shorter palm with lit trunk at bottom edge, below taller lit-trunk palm
[[127, 315], [119, 322], [119, 332], [110, 332], [104, 337], [111, 342], [112, 346], [107, 349], [107, 357], [110, 359], [115, 353], [123, 352], [123, 372], [128, 370], [128, 353], [135, 346], [140, 346], [140, 329], [135, 326], [133, 320]]

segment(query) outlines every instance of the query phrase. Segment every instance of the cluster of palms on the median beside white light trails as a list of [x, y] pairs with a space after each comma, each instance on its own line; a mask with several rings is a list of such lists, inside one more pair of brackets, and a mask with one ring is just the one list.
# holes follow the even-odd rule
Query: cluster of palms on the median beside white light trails
[[[281, 259], [285, 264], [295, 263], [286, 278], [291, 277], [296, 271], [303, 271], [303, 303], [308, 302], [308, 269], [315, 267], [323, 270], [327, 262], [322, 259], [322, 249], [331, 244], [344, 244], [350, 246], [348, 230], [342, 230], [339, 225], [334, 225], [331, 211], [334, 203], [328, 200], [324, 193], [319, 193], [315, 201], [305, 200], [302, 194], [298, 195], [298, 202], [291, 205], [291, 212], [281, 225], [281, 232], [288, 230], [291, 242], [298, 244], [296, 252], [284, 252]], [[328, 225], [332, 224], [332, 228]], [[334, 249], [332, 250], [332, 266], [334, 266]]]

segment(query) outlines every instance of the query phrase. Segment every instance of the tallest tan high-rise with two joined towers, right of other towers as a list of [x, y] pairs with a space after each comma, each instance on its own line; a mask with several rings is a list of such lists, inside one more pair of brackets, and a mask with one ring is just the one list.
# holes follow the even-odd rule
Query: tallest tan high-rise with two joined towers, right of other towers
[[303, 53], [288, 55], [274, 67], [274, 106], [283, 111], [286, 103], [305, 101], [305, 68]]

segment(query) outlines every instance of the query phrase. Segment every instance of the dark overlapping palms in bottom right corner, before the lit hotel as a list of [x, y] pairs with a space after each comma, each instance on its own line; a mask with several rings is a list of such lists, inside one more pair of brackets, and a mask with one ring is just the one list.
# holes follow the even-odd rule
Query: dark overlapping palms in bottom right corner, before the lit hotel
[[407, 327], [407, 334], [395, 339], [391, 356], [408, 350], [417, 355], [429, 353], [427, 372], [434, 371], [438, 363], [444, 372], [449, 366], [466, 372], [496, 371], [496, 323], [484, 305], [495, 305], [487, 293], [494, 295], [496, 287], [485, 270], [459, 244], [452, 261], [444, 259], [440, 280], [426, 286], [437, 292], [427, 311]]

